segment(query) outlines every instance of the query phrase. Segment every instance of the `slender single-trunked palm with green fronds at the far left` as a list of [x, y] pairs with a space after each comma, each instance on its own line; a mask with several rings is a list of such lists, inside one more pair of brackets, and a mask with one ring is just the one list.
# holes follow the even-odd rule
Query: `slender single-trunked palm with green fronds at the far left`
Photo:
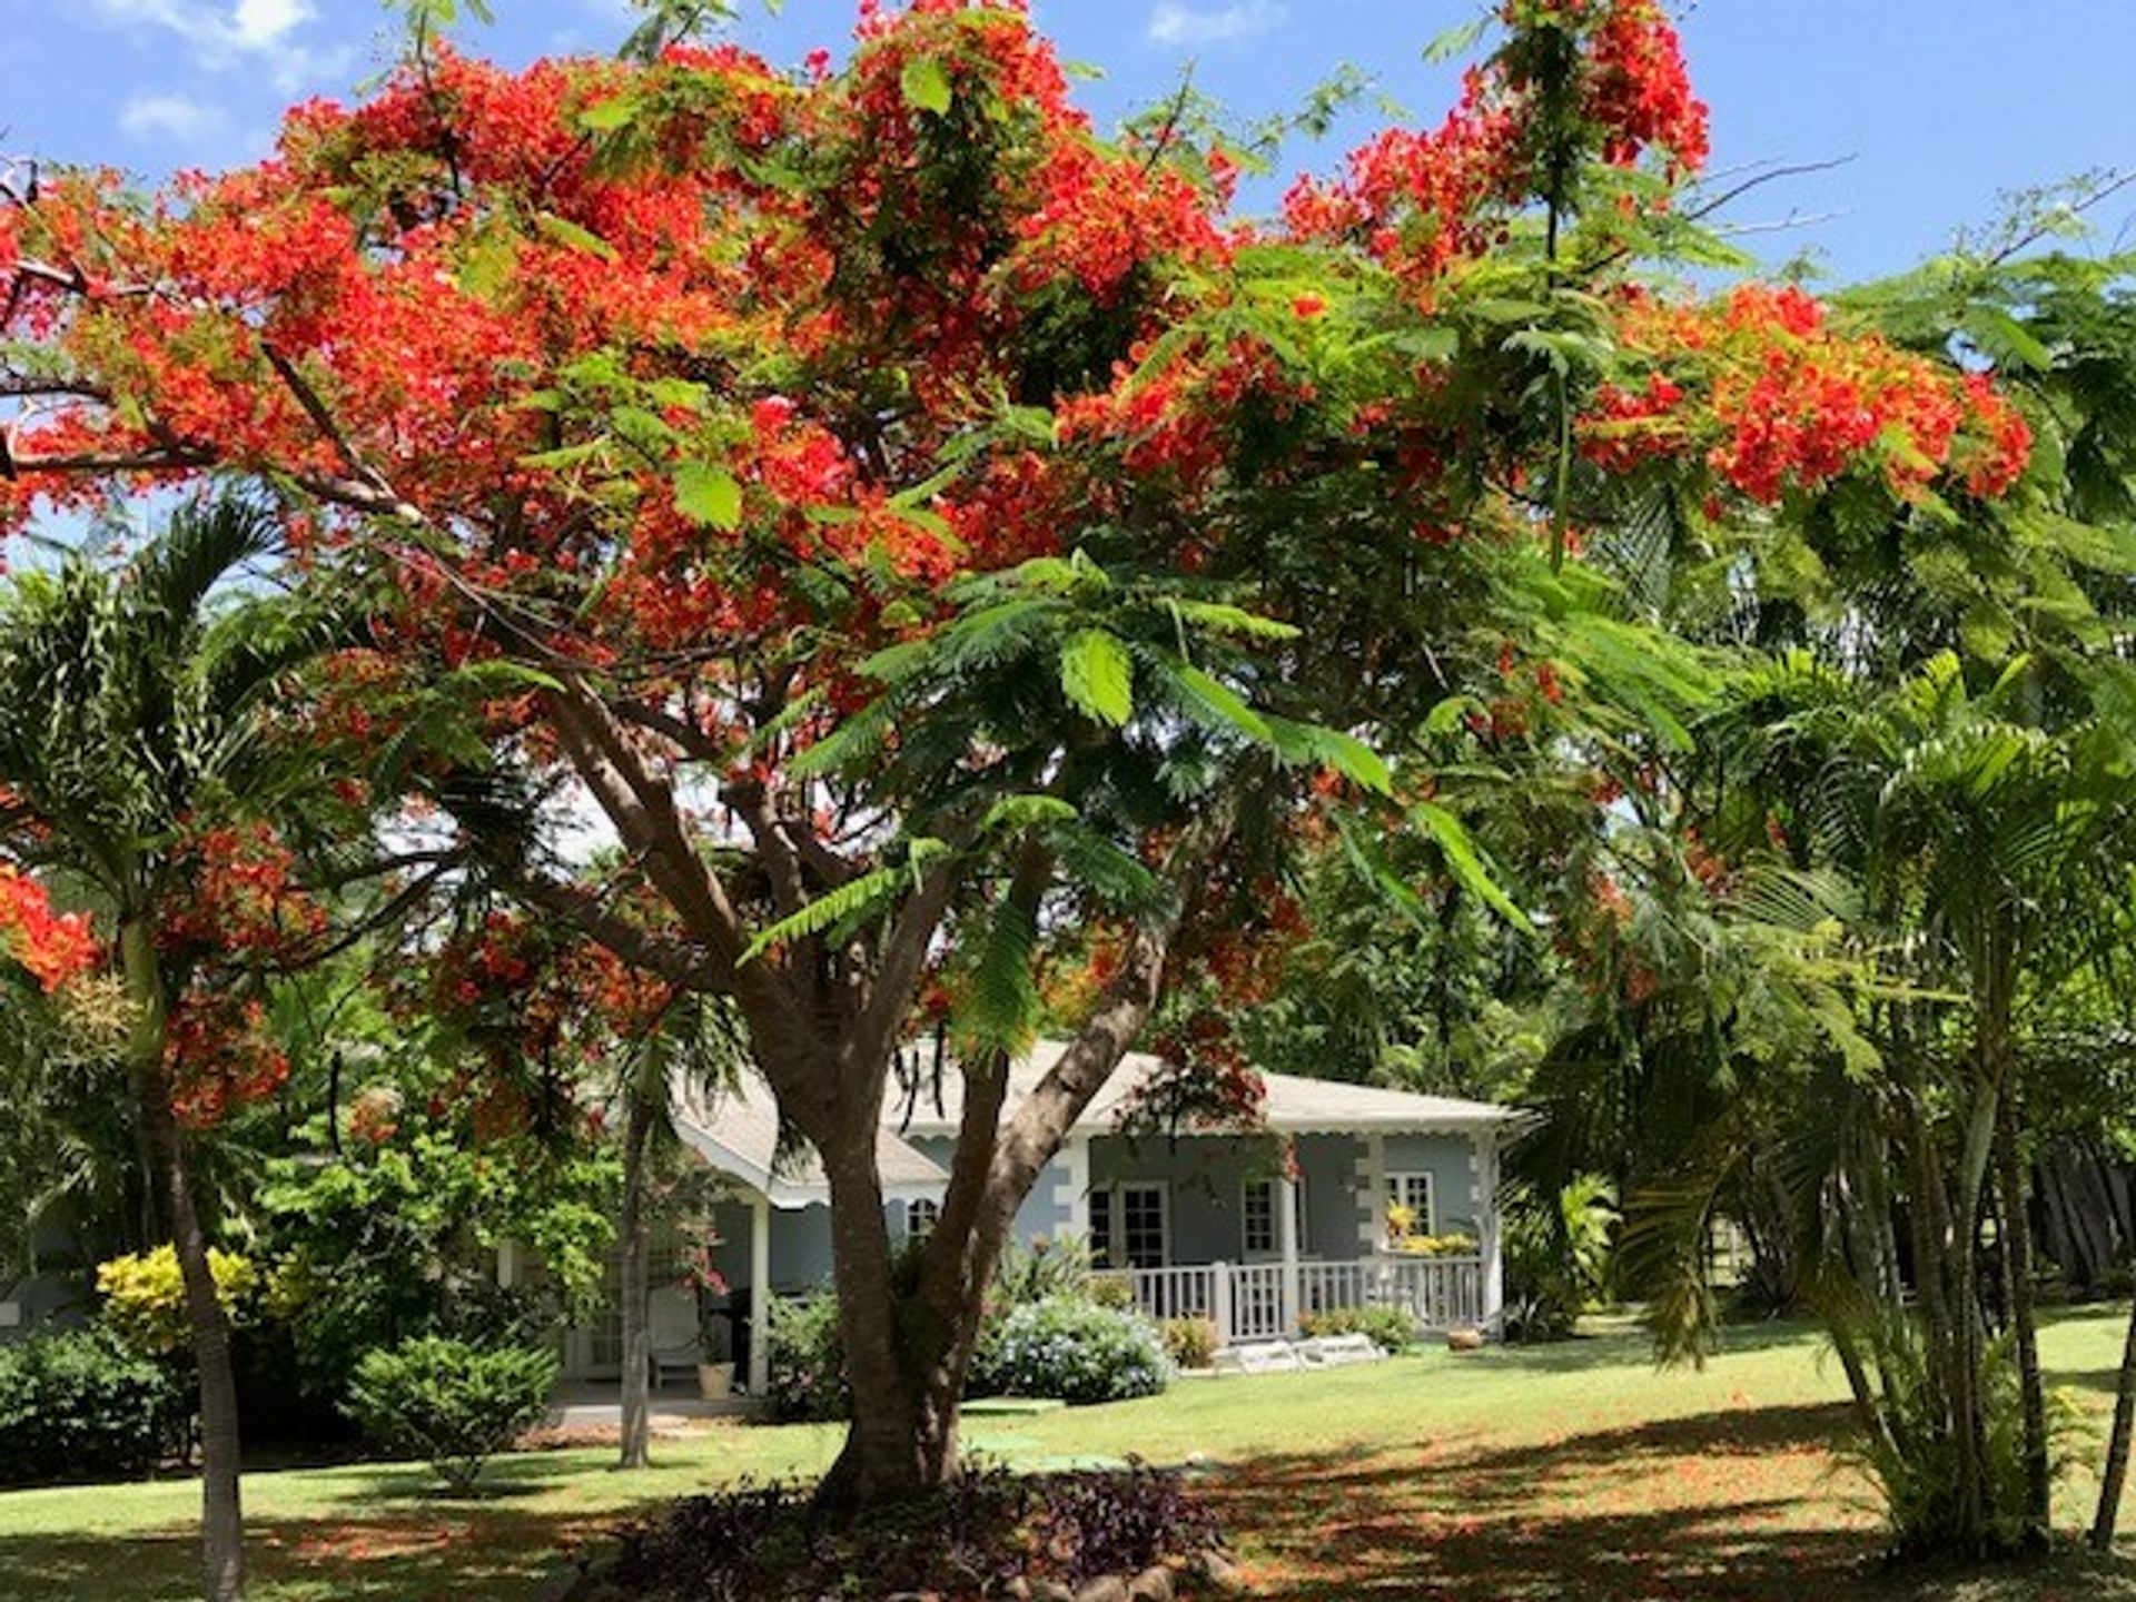
[[278, 745], [273, 709], [329, 624], [248, 581], [276, 545], [278, 523], [256, 506], [188, 506], [124, 564], [75, 551], [19, 572], [0, 598], [0, 839], [115, 929], [132, 1115], [186, 1284], [211, 1602], [244, 1593], [237, 1386], [197, 1138], [173, 1109], [169, 1025], [188, 974], [158, 927], [190, 895], [188, 827], [276, 816], [320, 784], [316, 752]]

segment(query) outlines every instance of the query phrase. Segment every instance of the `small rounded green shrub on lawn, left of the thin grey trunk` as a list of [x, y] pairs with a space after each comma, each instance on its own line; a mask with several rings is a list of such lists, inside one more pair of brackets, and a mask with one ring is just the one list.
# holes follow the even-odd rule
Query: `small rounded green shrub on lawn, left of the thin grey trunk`
[[551, 1352], [425, 1335], [367, 1352], [348, 1382], [348, 1412], [380, 1446], [425, 1459], [466, 1493], [489, 1457], [540, 1423], [555, 1373]]

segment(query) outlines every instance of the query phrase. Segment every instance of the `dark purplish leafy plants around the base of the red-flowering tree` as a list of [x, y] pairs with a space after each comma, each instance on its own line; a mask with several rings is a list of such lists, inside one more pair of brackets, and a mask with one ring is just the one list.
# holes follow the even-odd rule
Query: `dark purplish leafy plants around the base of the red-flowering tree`
[[[1132, 1576], [1222, 1549], [1179, 1474], [1132, 1465], [1017, 1476], [972, 1467], [955, 1485], [857, 1523], [812, 1508], [814, 1487], [743, 1485], [690, 1497], [624, 1536], [609, 1581], [632, 1598], [801, 1602]], [[857, 1589], [859, 1587], [859, 1589]]]

